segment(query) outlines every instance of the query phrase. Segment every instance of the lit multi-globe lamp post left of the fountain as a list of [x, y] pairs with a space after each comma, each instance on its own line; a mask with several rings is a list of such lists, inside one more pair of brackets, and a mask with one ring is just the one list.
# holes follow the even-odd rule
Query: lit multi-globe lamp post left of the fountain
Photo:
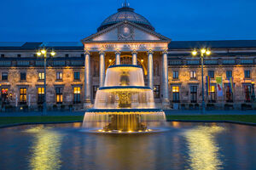
[[[47, 59], [47, 49], [46, 48], [42, 48], [42, 49], [38, 49], [37, 55], [38, 57], [41, 56], [43, 54], [44, 56], [44, 106], [43, 106], [43, 113], [44, 115], [46, 115], [46, 111], [47, 111], [47, 105], [46, 105], [46, 59]], [[52, 49], [49, 54], [51, 56], [55, 56], [55, 51]]]

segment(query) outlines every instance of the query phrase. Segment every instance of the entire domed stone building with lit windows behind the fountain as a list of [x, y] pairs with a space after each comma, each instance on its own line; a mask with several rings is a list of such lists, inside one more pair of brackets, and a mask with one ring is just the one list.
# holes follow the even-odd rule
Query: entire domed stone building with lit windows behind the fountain
[[[48, 110], [91, 107], [108, 66], [126, 64], [142, 66], [159, 107], [196, 108], [202, 101], [201, 59], [191, 51], [202, 47], [212, 50], [204, 59], [204, 77], [211, 77], [206, 103], [236, 109], [251, 105], [256, 41], [171, 41], [125, 4], [81, 42], [0, 42], [2, 106], [38, 110], [46, 94]], [[38, 48], [56, 52], [47, 56], [46, 75]], [[222, 96], [215, 77], [223, 78]]]

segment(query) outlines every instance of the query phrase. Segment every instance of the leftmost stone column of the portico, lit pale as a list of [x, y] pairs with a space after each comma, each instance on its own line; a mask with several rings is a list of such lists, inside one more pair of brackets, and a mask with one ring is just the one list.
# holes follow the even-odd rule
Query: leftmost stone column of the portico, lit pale
[[84, 52], [84, 109], [91, 106], [90, 101], [90, 53]]

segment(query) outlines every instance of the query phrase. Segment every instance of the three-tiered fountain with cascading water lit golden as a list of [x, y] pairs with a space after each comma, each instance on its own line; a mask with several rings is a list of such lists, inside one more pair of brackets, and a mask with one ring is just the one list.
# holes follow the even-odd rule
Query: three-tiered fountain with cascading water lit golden
[[149, 126], [165, 121], [164, 111], [155, 108], [153, 90], [145, 86], [142, 67], [112, 65], [83, 127], [98, 133], [147, 133], [154, 131]]

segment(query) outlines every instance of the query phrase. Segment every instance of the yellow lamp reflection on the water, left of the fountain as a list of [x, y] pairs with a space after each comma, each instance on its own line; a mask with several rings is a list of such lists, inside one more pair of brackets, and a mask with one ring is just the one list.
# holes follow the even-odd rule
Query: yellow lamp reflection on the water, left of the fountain
[[44, 126], [32, 127], [26, 130], [34, 133], [35, 140], [30, 156], [31, 169], [60, 169], [61, 168], [61, 139], [63, 133], [58, 133]]

